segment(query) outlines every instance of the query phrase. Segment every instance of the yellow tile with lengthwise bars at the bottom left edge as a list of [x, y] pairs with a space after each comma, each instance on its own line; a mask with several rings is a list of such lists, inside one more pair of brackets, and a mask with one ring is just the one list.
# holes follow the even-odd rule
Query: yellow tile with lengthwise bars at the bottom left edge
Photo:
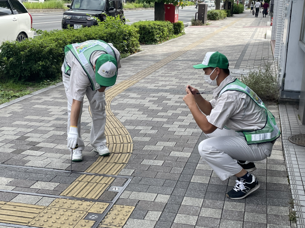
[[0, 222], [27, 225], [46, 207], [8, 202], [0, 208]]

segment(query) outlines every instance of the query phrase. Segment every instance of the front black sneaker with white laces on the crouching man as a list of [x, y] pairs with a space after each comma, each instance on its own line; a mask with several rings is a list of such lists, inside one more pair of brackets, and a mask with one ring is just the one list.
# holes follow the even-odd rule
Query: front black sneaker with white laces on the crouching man
[[252, 182], [248, 183], [245, 179], [237, 177], [236, 184], [232, 190], [227, 192], [227, 197], [233, 200], [240, 200], [247, 197], [250, 193], [253, 193], [259, 188], [259, 183], [254, 175], [252, 176]]

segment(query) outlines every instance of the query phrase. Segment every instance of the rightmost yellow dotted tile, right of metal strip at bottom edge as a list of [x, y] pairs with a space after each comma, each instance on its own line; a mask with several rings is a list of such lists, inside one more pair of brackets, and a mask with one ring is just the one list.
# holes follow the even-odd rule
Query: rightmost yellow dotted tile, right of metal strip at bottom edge
[[124, 205], [113, 205], [99, 227], [120, 227], [123, 226], [135, 207]]

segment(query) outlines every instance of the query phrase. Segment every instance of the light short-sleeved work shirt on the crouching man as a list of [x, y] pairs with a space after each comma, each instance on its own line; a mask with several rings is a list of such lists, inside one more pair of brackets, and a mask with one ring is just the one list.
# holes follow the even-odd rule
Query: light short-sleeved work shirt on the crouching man
[[210, 100], [212, 110], [207, 121], [223, 129], [226, 126], [234, 131], [258, 130], [265, 126], [266, 112], [252, 98], [239, 91], [226, 91], [220, 97], [220, 91], [235, 78], [229, 75], [213, 93]]

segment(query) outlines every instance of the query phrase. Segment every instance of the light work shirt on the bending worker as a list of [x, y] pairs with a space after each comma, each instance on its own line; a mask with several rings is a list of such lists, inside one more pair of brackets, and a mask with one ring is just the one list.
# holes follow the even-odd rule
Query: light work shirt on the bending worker
[[[117, 59], [117, 68], [121, 68], [119, 51], [116, 48], [114, 48], [112, 44], [109, 43], [109, 45], [115, 52]], [[106, 54], [106, 53], [103, 51], [95, 51], [92, 54], [92, 56], [90, 56], [90, 63], [92, 65], [95, 65], [97, 59], [102, 54]], [[72, 52], [69, 52], [66, 55], [66, 61], [67, 64], [71, 67], [70, 77], [69, 75], [66, 75], [66, 77], [69, 77], [70, 80], [67, 95], [73, 98], [74, 100], [83, 101], [86, 89], [91, 85], [88, 76], [84, 71], [84, 69], [82, 68], [81, 64], [78, 62], [77, 58], [72, 54]], [[64, 64], [62, 66], [62, 71], [65, 76]]]

